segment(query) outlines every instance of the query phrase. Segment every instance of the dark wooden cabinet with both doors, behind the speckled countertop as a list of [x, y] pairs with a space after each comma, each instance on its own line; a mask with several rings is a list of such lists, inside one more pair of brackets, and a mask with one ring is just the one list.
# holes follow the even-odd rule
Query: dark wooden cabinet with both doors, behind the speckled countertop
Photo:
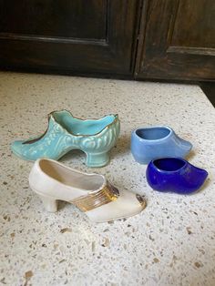
[[0, 0], [0, 68], [215, 80], [215, 1]]

